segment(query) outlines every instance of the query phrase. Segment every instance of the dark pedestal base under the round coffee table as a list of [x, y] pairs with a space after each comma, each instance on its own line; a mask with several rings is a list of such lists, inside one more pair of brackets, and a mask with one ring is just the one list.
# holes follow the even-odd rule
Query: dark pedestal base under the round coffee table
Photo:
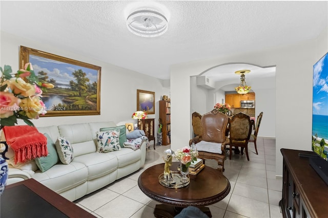
[[[210, 208], [208, 207], [198, 207], [203, 213], [208, 217], [212, 217]], [[154, 215], [156, 218], [174, 218], [177, 214], [181, 212], [183, 207], [174, 207], [165, 204], [156, 204], [154, 209]]]

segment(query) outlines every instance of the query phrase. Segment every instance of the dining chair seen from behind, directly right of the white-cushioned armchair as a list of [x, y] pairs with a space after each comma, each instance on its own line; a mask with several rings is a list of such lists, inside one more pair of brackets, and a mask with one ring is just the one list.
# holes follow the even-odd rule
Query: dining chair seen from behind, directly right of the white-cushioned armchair
[[250, 116], [239, 112], [235, 114], [229, 120], [229, 159], [231, 160], [232, 156], [232, 147], [241, 147], [241, 154], [243, 154], [243, 149], [245, 148], [246, 157], [249, 161], [250, 158], [248, 156], [248, 141], [250, 140], [252, 127], [254, 125], [254, 120], [250, 119]]

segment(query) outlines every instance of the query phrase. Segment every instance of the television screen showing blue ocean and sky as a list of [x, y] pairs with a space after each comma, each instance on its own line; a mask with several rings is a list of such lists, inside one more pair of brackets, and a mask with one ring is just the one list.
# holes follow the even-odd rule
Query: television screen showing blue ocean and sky
[[312, 150], [328, 154], [328, 53], [313, 66]]

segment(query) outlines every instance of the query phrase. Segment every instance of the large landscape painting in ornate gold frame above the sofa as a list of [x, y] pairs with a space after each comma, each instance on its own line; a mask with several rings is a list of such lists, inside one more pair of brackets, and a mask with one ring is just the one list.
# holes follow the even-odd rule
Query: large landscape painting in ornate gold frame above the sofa
[[28, 62], [40, 81], [55, 86], [42, 94], [45, 117], [100, 114], [100, 67], [20, 46], [19, 69]]

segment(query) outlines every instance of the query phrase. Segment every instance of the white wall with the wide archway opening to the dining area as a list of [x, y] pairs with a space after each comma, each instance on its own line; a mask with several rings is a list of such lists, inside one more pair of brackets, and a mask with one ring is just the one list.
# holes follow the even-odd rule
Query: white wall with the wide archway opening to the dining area
[[[297, 45], [172, 66], [172, 149], [188, 144], [190, 139], [188, 126], [191, 126], [191, 113], [190, 108], [186, 106], [191, 103], [190, 76], [197, 75], [212, 66], [228, 62], [276, 66], [276, 104], [274, 106], [276, 113], [276, 175], [281, 176], [282, 155], [280, 148], [311, 150], [312, 71], [313, 64], [328, 51], [327, 36], [327, 29], [325, 29], [317, 39], [304, 41]], [[298, 85], [302, 85], [302, 89], [295, 91], [294, 88]], [[288, 113], [289, 110], [291, 113]]]

